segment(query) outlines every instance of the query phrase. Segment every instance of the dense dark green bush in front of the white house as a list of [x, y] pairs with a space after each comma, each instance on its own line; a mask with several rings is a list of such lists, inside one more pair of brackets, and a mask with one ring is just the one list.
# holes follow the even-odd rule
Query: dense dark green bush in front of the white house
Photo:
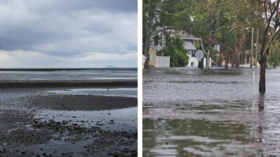
[[158, 52], [158, 54], [164, 54], [170, 56], [170, 66], [172, 67], [184, 67], [188, 65], [188, 51], [183, 47], [183, 40], [176, 37], [167, 38], [165, 47]]

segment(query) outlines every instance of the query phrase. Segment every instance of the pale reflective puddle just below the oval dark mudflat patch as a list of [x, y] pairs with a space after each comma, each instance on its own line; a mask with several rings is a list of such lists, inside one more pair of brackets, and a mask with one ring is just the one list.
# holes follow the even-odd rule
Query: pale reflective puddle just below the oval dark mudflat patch
[[99, 126], [104, 130], [136, 131], [137, 107], [100, 111], [40, 110], [34, 115], [34, 119], [66, 121], [69, 125], [75, 124], [87, 128]]

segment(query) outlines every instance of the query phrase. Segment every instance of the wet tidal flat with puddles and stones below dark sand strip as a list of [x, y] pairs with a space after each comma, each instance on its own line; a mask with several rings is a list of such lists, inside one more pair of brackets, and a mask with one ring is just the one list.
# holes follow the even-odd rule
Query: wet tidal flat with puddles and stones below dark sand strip
[[0, 89], [0, 156], [137, 156], [137, 98], [27, 84]]

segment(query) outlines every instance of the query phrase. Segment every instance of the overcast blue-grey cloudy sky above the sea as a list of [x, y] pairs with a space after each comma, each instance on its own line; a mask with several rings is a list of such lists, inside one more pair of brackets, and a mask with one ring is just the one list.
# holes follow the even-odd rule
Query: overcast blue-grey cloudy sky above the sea
[[0, 68], [137, 67], [137, 0], [0, 0]]

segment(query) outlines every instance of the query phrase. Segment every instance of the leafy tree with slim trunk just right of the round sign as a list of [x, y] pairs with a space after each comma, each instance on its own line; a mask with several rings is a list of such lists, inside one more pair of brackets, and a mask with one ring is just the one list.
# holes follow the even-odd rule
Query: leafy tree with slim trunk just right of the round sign
[[[203, 3], [202, 3], [203, 2]], [[192, 33], [200, 36], [203, 43], [207, 45], [206, 68], [209, 69], [209, 57], [213, 44], [217, 38], [221, 38], [224, 30], [232, 31], [235, 29], [233, 20], [236, 18], [233, 14], [234, 1], [231, 0], [208, 0], [200, 1], [195, 4], [193, 11]]]

